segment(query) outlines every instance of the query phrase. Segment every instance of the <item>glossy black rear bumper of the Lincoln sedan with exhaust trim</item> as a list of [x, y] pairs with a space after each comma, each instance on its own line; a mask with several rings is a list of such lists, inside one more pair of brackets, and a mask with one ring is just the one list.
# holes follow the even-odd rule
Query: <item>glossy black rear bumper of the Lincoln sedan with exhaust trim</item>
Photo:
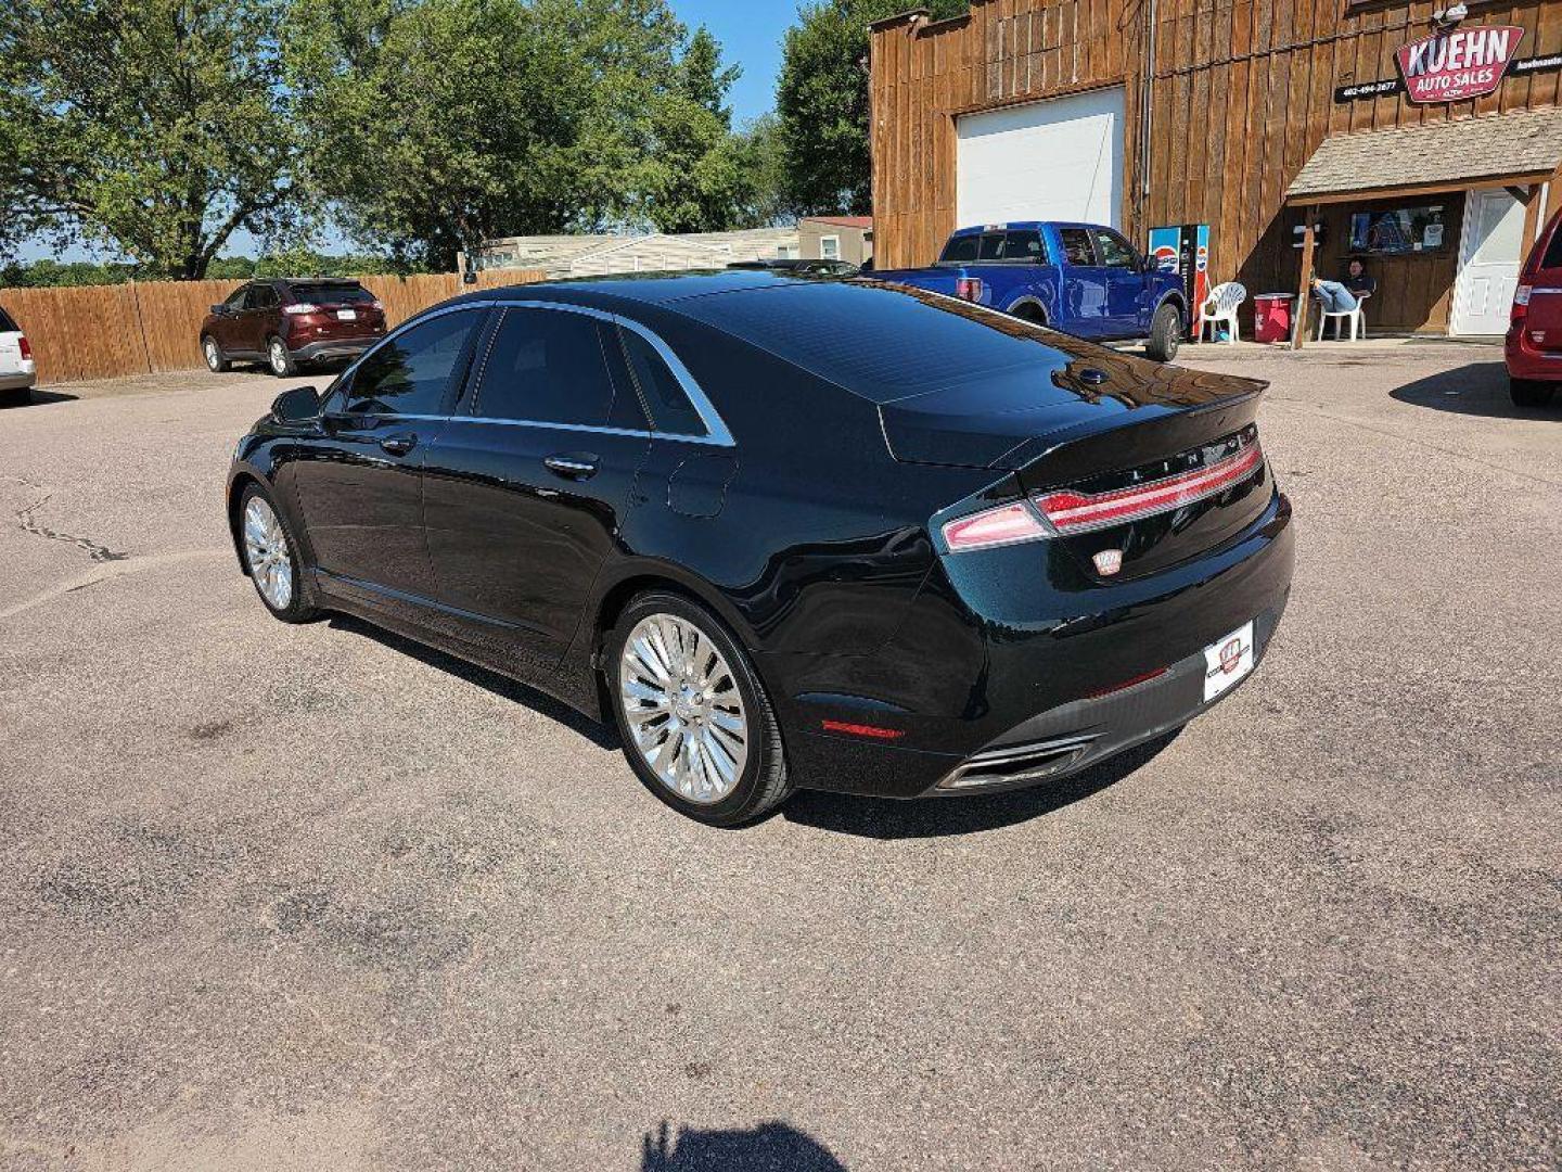
[[[1153, 580], [1064, 597], [1056, 619], [976, 633], [968, 616], [962, 622], [918, 600], [884, 652], [823, 658], [787, 681], [793, 775], [808, 788], [920, 797], [993, 792], [1089, 769], [1236, 691], [1204, 700], [1203, 649], [1253, 620], [1256, 670], [1290, 597], [1293, 566], [1290, 505], [1276, 494], [1225, 548]], [[1087, 600], [1092, 609], [1065, 609]], [[1122, 686], [1148, 672], [1161, 674]], [[823, 720], [893, 736], [868, 742], [822, 731]], [[948, 784], [973, 777], [981, 784]]]

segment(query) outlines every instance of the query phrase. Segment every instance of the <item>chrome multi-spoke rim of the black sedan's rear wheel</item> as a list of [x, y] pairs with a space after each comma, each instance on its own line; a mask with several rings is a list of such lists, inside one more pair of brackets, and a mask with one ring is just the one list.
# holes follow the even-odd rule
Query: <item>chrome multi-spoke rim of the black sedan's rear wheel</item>
[[748, 759], [737, 680], [687, 619], [651, 614], [623, 644], [619, 694], [640, 759], [675, 794], [709, 805], [733, 792]]

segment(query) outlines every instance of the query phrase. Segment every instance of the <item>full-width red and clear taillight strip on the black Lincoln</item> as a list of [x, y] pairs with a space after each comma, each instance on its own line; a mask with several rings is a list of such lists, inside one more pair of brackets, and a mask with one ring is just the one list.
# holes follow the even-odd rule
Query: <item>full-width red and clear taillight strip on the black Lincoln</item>
[[943, 523], [943, 542], [950, 553], [961, 553], [1125, 525], [1225, 492], [1253, 475], [1262, 463], [1264, 452], [1254, 439], [1236, 455], [1193, 472], [1112, 492], [1059, 489], [1034, 500], [1015, 500], [956, 517]]

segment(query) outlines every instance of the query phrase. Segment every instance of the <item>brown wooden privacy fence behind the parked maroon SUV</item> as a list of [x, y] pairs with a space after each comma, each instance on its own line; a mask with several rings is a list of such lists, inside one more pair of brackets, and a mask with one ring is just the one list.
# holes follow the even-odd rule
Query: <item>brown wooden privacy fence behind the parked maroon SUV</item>
[[[536, 269], [489, 269], [478, 273], [476, 288], [531, 284], [542, 278]], [[473, 288], [464, 286], [459, 273], [358, 280], [384, 305], [386, 325]], [[130, 281], [0, 289], [0, 306], [27, 334], [39, 384], [75, 383], [205, 366], [200, 323], [214, 302], [241, 284], [244, 281]]]

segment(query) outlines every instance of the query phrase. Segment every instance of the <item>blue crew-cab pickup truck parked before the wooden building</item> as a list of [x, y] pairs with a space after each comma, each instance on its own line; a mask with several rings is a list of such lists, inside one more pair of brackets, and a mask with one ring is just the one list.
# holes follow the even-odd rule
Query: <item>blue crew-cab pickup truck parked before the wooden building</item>
[[1142, 341], [1157, 363], [1176, 356], [1189, 322], [1182, 280], [1153, 269], [1120, 233], [1098, 223], [961, 228], [931, 269], [873, 277], [990, 305], [1093, 342]]

